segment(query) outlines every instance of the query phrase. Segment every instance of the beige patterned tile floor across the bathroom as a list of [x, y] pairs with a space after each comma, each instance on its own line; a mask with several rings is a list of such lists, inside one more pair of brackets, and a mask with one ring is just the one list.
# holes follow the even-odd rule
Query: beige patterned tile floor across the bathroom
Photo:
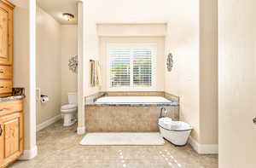
[[38, 156], [12, 168], [217, 168], [218, 155], [199, 155], [188, 145], [80, 146], [76, 125], [61, 121], [38, 132]]

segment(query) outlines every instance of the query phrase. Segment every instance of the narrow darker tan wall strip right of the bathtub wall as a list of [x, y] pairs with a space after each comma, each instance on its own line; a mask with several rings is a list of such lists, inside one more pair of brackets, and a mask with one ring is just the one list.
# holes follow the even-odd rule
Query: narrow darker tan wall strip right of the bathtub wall
[[218, 2], [200, 3], [200, 139], [218, 144]]

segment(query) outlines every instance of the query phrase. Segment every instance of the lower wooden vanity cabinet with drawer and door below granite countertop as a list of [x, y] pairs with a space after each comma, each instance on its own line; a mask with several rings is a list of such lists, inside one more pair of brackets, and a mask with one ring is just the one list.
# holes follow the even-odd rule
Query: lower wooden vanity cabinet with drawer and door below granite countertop
[[0, 168], [23, 154], [23, 101], [0, 102]]

